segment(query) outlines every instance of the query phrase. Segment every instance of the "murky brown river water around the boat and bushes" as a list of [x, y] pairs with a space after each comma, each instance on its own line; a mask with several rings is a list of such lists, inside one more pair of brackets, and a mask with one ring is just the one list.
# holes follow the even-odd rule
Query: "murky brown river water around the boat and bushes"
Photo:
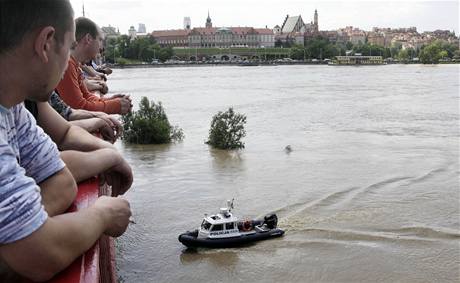
[[[112, 92], [161, 101], [186, 135], [118, 148], [136, 224], [121, 282], [460, 282], [458, 65], [120, 69]], [[241, 151], [204, 144], [247, 116]], [[284, 149], [287, 145], [291, 152]], [[277, 213], [282, 238], [187, 250], [177, 236], [235, 198]]]

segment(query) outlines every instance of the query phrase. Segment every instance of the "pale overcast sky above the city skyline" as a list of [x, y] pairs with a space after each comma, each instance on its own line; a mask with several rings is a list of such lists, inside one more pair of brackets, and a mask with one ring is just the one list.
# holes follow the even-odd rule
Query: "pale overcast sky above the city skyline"
[[286, 15], [301, 15], [313, 21], [315, 9], [320, 30], [345, 26], [371, 30], [373, 27], [416, 27], [417, 31], [436, 29], [459, 33], [459, 0], [455, 1], [376, 1], [376, 0], [70, 0], [75, 16], [86, 17], [99, 26], [114, 26], [127, 34], [130, 26], [144, 23], [147, 32], [183, 28], [184, 17], [192, 27], [203, 27], [208, 10], [213, 26], [273, 28], [281, 26]]

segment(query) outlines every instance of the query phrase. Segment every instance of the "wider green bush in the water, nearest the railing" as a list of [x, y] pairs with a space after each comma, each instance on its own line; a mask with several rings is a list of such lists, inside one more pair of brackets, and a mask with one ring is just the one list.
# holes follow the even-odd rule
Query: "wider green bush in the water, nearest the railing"
[[123, 139], [136, 144], [162, 144], [184, 139], [182, 129], [171, 126], [161, 102], [142, 97], [139, 110], [122, 117]]

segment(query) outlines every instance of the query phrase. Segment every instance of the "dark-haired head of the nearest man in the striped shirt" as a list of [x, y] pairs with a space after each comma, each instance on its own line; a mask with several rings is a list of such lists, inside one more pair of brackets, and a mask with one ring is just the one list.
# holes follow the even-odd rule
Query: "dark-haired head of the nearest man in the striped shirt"
[[27, 61], [10, 66], [27, 76], [26, 98], [48, 99], [67, 68], [74, 29], [68, 0], [0, 0], [0, 59]]

